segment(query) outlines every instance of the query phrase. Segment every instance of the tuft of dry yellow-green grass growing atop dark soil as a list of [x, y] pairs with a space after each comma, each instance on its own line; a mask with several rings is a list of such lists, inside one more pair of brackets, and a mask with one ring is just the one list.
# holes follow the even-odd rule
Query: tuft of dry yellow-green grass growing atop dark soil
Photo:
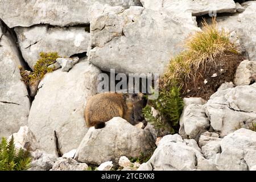
[[199, 69], [215, 63], [215, 57], [224, 52], [237, 53], [234, 44], [229, 41], [229, 33], [223, 28], [218, 29], [217, 22], [212, 19], [212, 24], [205, 20], [201, 31], [195, 32], [185, 42], [185, 49], [180, 55], [170, 60], [167, 72], [160, 78], [160, 86], [183, 86], [184, 80], [193, 79]]

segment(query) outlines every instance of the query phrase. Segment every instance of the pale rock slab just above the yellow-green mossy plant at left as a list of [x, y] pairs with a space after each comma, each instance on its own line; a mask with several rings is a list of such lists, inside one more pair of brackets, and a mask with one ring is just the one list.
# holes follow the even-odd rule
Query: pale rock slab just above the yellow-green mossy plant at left
[[40, 57], [40, 52], [57, 52], [61, 57], [86, 52], [90, 33], [85, 27], [51, 27], [37, 25], [16, 27], [19, 48], [31, 69]]

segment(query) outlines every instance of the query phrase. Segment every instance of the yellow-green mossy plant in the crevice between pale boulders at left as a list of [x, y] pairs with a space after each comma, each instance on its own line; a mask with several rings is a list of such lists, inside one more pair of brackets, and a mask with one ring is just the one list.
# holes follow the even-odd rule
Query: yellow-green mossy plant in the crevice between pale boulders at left
[[56, 63], [56, 59], [59, 57], [57, 52], [44, 53], [40, 52], [40, 59], [34, 65], [34, 72], [27, 74], [26, 71], [20, 69], [20, 75], [22, 80], [28, 85], [33, 82], [42, 80], [44, 75], [48, 72], [52, 72], [53, 68], [48, 68], [49, 65]]

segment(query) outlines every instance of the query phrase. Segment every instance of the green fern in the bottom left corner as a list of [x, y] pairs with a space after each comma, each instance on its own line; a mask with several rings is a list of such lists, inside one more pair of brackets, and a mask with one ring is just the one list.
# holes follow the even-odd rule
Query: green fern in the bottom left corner
[[16, 151], [14, 137], [9, 141], [2, 138], [0, 144], [0, 171], [23, 171], [30, 167], [31, 157], [30, 150]]

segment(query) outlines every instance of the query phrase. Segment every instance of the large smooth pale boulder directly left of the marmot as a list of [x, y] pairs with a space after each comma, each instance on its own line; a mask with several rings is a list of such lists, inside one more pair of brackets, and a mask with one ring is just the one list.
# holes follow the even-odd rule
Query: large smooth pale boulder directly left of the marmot
[[81, 60], [69, 72], [47, 73], [32, 103], [28, 127], [42, 150], [62, 154], [77, 148], [88, 131], [84, 109], [89, 97], [97, 93], [100, 70]]

